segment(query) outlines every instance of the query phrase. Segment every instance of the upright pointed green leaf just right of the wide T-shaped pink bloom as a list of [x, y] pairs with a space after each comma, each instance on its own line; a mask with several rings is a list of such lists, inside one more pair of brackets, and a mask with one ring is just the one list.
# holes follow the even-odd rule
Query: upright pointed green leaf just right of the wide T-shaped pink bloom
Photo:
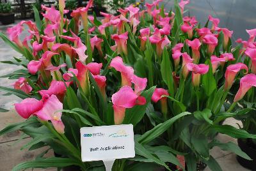
[[207, 64], [209, 64], [209, 71], [203, 75], [202, 78], [202, 87], [204, 88], [205, 94], [209, 97], [212, 92], [217, 88], [216, 81], [214, 75], [212, 73], [212, 65], [209, 60], [207, 60]]

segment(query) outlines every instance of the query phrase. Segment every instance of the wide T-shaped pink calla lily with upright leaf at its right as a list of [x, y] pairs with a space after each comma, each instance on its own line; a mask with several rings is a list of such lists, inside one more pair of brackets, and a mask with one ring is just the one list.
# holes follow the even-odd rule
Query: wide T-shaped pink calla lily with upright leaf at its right
[[192, 83], [195, 87], [200, 85], [200, 77], [201, 75], [207, 73], [209, 71], [209, 65], [206, 64], [193, 64], [188, 63], [184, 67], [182, 71], [182, 75], [184, 78], [188, 76], [188, 72], [192, 71]]

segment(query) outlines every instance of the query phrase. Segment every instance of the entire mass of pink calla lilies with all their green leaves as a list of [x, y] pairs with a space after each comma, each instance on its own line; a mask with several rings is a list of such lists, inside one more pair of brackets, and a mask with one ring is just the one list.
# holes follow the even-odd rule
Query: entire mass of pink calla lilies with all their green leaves
[[[112, 170], [221, 170], [210, 153], [214, 146], [252, 160], [215, 135], [256, 138], [246, 124], [244, 130], [221, 124], [246, 115], [249, 101], [255, 110], [254, 58], [241, 55], [247, 47], [232, 46], [232, 31], [218, 26], [219, 19], [209, 16], [200, 27], [186, 16], [189, 1], [175, 0], [168, 13], [159, 3], [120, 8], [116, 16], [101, 12], [98, 20], [88, 15], [92, 0], [73, 10], [72, 19], [65, 19], [60, 0], [59, 10], [42, 5], [43, 20], [34, 8], [35, 22], [0, 33], [21, 54], [8, 63], [24, 67], [2, 76], [17, 79], [13, 88], [0, 87], [22, 99], [14, 107], [24, 122], [0, 135], [20, 130], [31, 137], [22, 149], [49, 146], [56, 154], [46, 158], [45, 151], [13, 170], [104, 170], [102, 161], [81, 160], [79, 129], [113, 124], [133, 125], [136, 156], [116, 160]], [[20, 40], [24, 26], [29, 36]], [[244, 45], [254, 48], [255, 36]]]

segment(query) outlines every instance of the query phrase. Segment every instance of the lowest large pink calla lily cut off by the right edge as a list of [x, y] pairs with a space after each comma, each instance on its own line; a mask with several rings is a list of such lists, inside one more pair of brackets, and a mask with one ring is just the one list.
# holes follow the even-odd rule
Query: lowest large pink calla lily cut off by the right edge
[[256, 75], [253, 73], [250, 73], [240, 79], [240, 87], [234, 98], [234, 103], [243, 99], [244, 95], [252, 87], [256, 87]]

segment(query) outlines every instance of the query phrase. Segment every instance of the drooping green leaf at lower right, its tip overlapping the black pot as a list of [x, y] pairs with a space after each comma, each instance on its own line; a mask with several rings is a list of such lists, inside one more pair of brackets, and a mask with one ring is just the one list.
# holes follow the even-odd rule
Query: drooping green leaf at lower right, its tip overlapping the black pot
[[238, 145], [234, 144], [234, 142], [221, 143], [218, 140], [213, 140], [209, 145], [210, 147], [218, 146], [223, 151], [231, 151], [237, 154], [238, 156], [245, 158], [246, 160], [252, 160], [245, 152], [243, 152], [238, 147]]

